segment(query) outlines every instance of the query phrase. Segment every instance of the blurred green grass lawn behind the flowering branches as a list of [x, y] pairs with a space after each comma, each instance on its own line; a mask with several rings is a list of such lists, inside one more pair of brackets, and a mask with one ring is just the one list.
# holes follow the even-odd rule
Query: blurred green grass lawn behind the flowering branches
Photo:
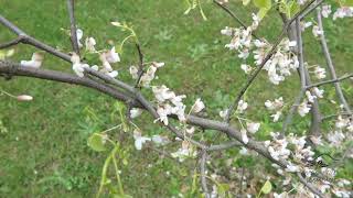
[[[232, 9], [249, 22], [252, 8], [245, 10], [234, 1], [232, 4]], [[98, 48], [108, 47], [108, 40], [119, 43], [126, 35], [109, 21], [133, 24], [146, 62], [165, 63], [159, 72], [158, 84], [188, 95], [188, 103], [203, 98], [210, 107], [207, 113], [216, 116], [232, 102], [246, 76], [239, 68], [239, 61], [224, 48], [228, 38], [220, 34], [224, 26], [237, 24], [210, 2], [203, 8], [208, 21], [203, 21], [197, 11], [183, 15], [185, 4], [179, 0], [86, 0], [78, 1], [76, 16], [85, 36], [94, 36]], [[0, 13], [40, 41], [71, 51], [68, 36], [61, 30], [68, 28], [65, 1], [0, 0]], [[280, 21], [275, 14], [265, 19], [258, 32], [269, 41], [275, 40], [280, 31]], [[350, 19], [325, 24], [339, 74], [352, 72], [352, 22]], [[311, 32], [307, 34], [306, 38], [311, 40]], [[0, 26], [0, 42], [11, 37], [13, 35]], [[307, 58], [311, 64], [324, 65], [318, 42], [307, 42], [309, 40], [304, 46]], [[29, 59], [35, 50], [21, 45], [15, 51], [13, 58], [20, 61]], [[132, 44], [126, 45], [121, 58], [116, 68], [120, 70], [120, 78], [130, 80], [127, 68], [138, 62]], [[71, 72], [69, 64], [50, 55], [43, 65]], [[268, 123], [263, 103], [265, 99], [296, 95], [298, 85], [288, 81], [274, 87], [264, 73], [246, 95], [252, 105], [249, 118]], [[7, 133], [0, 133], [0, 197], [92, 197], [99, 184], [105, 154], [90, 151], [86, 141], [90, 133], [116, 125], [117, 118], [110, 114], [114, 100], [86, 88], [29, 78], [0, 79], [0, 88], [34, 97], [34, 101], [24, 103], [0, 96], [0, 120], [8, 129]], [[327, 91], [333, 92], [332, 89]], [[347, 98], [353, 98], [352, 84], [344, 84], [344, 91]], [[331, 107], [323, 109], [334, 112]], [[292, 131], [302, 131], [307, 124], [300, 122]], [[150, 134], [163, 132], [154, 127], [143, 128]], [[268, 123], [267, 128], [276, 130], [279, 124]], [[132, 145], [131, 135], [125, 144]], [[152, 166], [145, 167], [148, 164]], [[126, 190], [136, 197], [178, 195], [191, 184], [191, 178], [186, 168], [172, 164], [173, 161], [160, 158], [150, 150], [131, 150], [129, 167], [122, 170]], [[171, 176], [165, 174], [168, 169]]]

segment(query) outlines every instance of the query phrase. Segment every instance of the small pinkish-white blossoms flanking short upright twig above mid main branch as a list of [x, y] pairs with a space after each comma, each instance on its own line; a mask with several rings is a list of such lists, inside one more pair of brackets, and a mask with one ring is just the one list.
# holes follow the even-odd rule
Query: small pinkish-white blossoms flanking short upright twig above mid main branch
[[[163, 67], [164, 63], [152, 62], [147, 72], [141, 76], [140, 84], [143, 87], [149, 87], [150, 82], [156, 78], [156, 72], [158, 68]], [[133, 79], [138, 79], [139, 69], [136, 66], [130, 66], [130, 75]]]

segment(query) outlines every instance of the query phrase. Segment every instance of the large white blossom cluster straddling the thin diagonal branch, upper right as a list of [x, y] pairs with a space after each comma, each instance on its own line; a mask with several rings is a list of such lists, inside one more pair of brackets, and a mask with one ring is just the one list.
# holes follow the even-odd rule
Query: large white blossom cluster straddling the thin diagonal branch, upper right
[[[257, 29], [258, 24], [258, 16], [253, 14], [253, 24], [247, 29], [233, 29], [226, 26], [221, 31], [222, 34], [232, 36], [231, 43], [226, 44], [225, 47], [237, 51], [238, 57], [244, 61], [248, 58], [250, 51], [254, 51], [255, 65], [257, 66], [264, 62], [271, 47], [265, 40], [253, 40], [252, 32]], [[285, 80], [286, 76], [291, 74], [291, 70], [298, 68], [298, 57], [291, 53], [291, 50], [296, 44], [296, 42], [284, 38], [278, 45], [276, 53], [265, 64], [264, 69], [268, 72], [269, 80], [272, 84], [278, 85], [280, 81]], [[240, 68], [245, 74], [249, 74], [253, 70], [247, 64], [242, 64]]]

